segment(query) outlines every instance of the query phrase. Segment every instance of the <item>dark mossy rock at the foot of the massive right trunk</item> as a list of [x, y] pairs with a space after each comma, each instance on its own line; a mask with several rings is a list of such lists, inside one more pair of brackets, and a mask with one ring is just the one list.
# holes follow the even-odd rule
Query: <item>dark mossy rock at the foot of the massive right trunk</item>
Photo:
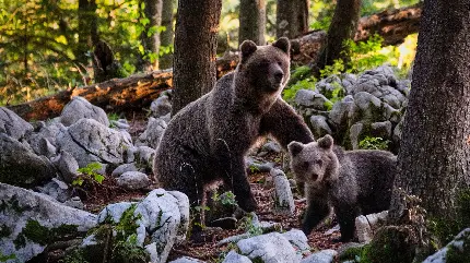
[[367, 252], [371, 262], [411, 263], [415, 254], [412, 231], [406, 226], [386, 226], [378, 229]]

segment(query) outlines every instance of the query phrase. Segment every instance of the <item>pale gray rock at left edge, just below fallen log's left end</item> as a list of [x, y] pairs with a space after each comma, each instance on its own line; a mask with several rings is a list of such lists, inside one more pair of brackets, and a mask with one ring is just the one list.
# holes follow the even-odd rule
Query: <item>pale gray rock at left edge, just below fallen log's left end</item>
[[21, 140], [32, 131], [32, 124], [8, 108], [0, 107], [0, 133], [7, 133], [7, 135], [15, 140]]

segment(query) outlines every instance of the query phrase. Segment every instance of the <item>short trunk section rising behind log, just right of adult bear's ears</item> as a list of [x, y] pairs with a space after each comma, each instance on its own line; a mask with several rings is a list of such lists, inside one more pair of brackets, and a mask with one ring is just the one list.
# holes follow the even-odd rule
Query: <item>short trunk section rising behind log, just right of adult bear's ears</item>
[[278, 0], [277, 37], [296, 38], [308, 31], [309, 0]]

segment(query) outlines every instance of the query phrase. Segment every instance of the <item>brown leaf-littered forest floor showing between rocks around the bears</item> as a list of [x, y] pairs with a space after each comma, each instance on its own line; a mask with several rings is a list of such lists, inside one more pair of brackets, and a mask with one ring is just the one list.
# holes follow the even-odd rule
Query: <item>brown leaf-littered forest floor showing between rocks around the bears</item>
[[[132, 121], [130, 133], [132, 136], [140, 134], [145, 129], [145, 122]], [[279, 155], [279, 156], [278, 156]], [[275, 162], [280, 160], [280, 154], [270, 154], [263, 157], [265, 160]], [[259, 159], [259, 157], [257, 157]], [[278, 163], [278, 165], [280, 165]], [[293, 228], [301, 228], [301, 214], [305, 210], [305, 199], [299, 194], [294, 193], [295, 212], [294, 215], [279, 215], [274, 212], [274, 201], [272, 199], [273, 187], [267, 187], [266, 180], [269, 172], [255, 172], [248, 176], [251, 184], [251, 191], [258, 203], [258, 210], [255, 212], [259, 220], [279, 223], [282, 228], [281, 231], [289, 231]], [[153, 184], [146, 191], [128, 191], [116, 186], [116, 181], [109, 175], [106, 177], [102, 186], [87, 188], [86, 198], [82, 199], [84, 208], [92, 213], [99, 213], [107, 204], [124, 201], [139, 201], [145, 198], [148, 192], [158, 186]], [[240, 220], [238, 220], [240, 222]], [[334, 242], [333, 239], [340, 237], [339, 231], [326, 235], [325, 232], [332, 228], [336, 224], [333, 219], [327, 219], [327, 223], [308, 235], [308, 243], [312, 247], [312, 252], [324, 249], [338, 249], [341, 243]], [[184, 241], [180, 244], [174, 246], [169, 253], [168, 261], [176, 260], [180, 256], [191, 256], [195, 259], [203, 260], [207, 262], [221, 262], [226, 253], [233, 248], [230, 244], [218, 246], [218, 242], [224, 238], [236, 236], [246, 232], [243, 224], [236, 229], [220, 229], [212, 236], [212, 240], [204, 243], [193, 243], [190, 240]]]

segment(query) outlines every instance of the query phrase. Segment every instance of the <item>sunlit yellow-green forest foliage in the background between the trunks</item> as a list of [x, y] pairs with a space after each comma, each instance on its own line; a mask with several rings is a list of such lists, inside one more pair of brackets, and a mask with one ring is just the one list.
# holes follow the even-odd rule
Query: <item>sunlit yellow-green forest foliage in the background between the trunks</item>
[[[122, 77], [148, 71], [143, 61], [157, 62], [173, 52], [173, 43], [162, 39], [157, 52], [145, 48], [142, 36], [173, 28], [149, 26], [144, 0], [0, 0], [0, 105], [14, 105], [55, 94], [66, 88], [97, 83], [93, 70], [93, 47], [105, 41], [114, 53]], [[365, 0], [361, 16], [386, 9], [416, 3], [416, 0]], [[328, 29], [336, 1], [309, 1], [309, 31]], [[176, 1], [171, 7], [171, 25], [176, 17]], [[275, 38], [277, 1], [266, 7], [266, 40]], [[224, 0], [219, 26], [218, 55], [238, 47], [239, 1]], [[165, 11], [164, 11], [165, 12]], [[163, 35], [162, 35], [163, 36]], [[173, 38], [172, 38], [173, 39]], [[414, 53], [415, 36], [406, 47], [383, 49], [377, 41], [357, 47], [374, 51], [380, 62], [395, 65]], [[374, 46], [375, 45], [375, 46]], [[365, 49], [364, 49], [365, 48]], [[357, 55], [363, 56], [363, 55]], [[384, 57], [385, 56], [385, 57]], [[153, 68], [155, 69], [155, 68]]]

